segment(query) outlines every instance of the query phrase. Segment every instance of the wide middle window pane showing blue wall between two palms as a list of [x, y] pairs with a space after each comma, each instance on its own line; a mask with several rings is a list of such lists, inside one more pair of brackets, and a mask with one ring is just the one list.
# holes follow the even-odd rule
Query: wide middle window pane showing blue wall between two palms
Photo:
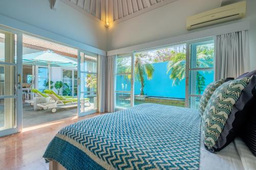
[[185, 106], [186, 45], [134, 55], [134, 104]]

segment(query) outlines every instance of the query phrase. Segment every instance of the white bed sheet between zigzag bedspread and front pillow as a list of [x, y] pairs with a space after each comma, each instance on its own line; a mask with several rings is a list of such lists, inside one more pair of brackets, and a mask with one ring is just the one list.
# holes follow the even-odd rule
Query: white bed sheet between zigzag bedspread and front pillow
[[231, 142], [217, 154], [210, 153], [204, 148], [201, 137], [200, 170], [243, 170], [243, 164], [238, 151]]

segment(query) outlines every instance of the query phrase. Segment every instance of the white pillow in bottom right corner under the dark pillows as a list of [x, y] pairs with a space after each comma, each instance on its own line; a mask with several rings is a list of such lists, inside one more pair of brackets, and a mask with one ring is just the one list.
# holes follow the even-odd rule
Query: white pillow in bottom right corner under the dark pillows
[[241, 138], [234, 139], [234, 145], [238, 150], [245, 170], [256, 169], [256, 157], [251, 153], [245, 142]]

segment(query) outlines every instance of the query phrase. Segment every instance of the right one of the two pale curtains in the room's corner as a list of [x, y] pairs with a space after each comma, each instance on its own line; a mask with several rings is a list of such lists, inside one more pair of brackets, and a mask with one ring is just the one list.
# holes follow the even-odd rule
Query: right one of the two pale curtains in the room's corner
[[115, 111], [115, 103], [116, 103], [116, 56], [108, 56], [108, 72], [107, 72], [107, 88], [106, 88], [106, 111], [107, 112], [114, 112]]

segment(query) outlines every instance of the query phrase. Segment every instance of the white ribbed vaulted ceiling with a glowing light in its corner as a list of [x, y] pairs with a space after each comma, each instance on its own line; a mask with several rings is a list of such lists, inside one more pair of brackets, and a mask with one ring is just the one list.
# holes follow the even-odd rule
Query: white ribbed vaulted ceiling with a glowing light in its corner
[[103, 22], [126, 20], [177, 0], [61, 0]]

